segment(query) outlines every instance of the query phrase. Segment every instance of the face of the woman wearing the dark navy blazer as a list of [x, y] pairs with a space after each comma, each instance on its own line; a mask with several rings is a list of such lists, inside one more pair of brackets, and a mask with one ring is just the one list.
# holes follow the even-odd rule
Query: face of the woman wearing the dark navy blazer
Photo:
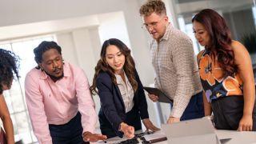
[[117, 46], [110, 45], [106, 47], [106, 62], [115, 74], [120, 74], [126, 62], [126, 56], [122, 54]]

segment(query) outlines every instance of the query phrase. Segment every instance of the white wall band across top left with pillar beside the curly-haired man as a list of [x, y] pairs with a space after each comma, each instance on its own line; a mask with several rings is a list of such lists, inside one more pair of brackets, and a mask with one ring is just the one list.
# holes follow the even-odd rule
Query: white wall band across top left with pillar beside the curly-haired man
[[[138, 72], [142, 82], [149, 85], [153, 82], [154, 72], [150, 64], [148, 40], [141, 30], [142, 19], [138, 14], [139, 6], [140, 3], [137, 0], [2, 0], [0, 26], [48, 22], [123, 11]], [[2, 30], [0, 34], [1, 32]], [[4, 33], [7, 32], [4, 31]]]

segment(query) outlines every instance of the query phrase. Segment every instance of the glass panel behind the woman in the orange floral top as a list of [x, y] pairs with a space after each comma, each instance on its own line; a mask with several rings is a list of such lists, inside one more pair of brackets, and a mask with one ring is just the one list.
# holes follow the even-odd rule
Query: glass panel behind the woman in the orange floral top
[[[256, 33], [255, 22], [255, 0], [170, 0], [174, 4], [174, 13], [176, 22], [180, 30], [190, 36], [193, 42], [195, 41], [194, 34], [191, 34], [191, 19], [198, 11], [206, 8], [216, 10], [225, 18], [232, 37], [235, 40], [242, 42], [242, 36], [248, 33]], [[198, 42], [194, 44], [195, 54], [202, 50]]]

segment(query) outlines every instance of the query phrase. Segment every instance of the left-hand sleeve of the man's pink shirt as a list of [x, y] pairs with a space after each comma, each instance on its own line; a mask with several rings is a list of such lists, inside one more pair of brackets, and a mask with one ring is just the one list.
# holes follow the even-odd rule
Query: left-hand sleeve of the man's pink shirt
[[42, 94], [39, 90], [38, 79], [34, 79], [30, 74], [25, 79], [26, 104], [30, 114], [34, 135], [38, 142], [51, 144], [49, 125], [47, 122]]

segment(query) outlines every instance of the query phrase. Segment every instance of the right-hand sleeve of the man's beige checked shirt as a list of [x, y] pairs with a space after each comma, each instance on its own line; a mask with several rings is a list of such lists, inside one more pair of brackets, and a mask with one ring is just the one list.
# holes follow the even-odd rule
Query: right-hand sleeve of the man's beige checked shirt
[[171, 116], [181, 118], [193, 94], [194, 50], [190, 40], [184, 39], [173, 51], [174, 67], [177, 70], [177, 90]]

